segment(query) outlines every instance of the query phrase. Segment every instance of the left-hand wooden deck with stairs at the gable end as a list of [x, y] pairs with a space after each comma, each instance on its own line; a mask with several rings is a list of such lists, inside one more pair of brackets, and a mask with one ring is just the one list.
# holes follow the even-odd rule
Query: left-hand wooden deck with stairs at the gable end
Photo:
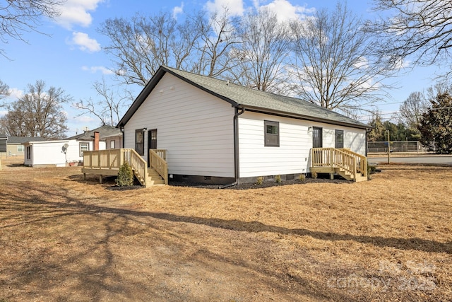
[[118, 175], [124, 162], [129, 163], [138, 182], [145, 187], [168, 184], [166, 150], [151, 149], [150, 167], [134, 149], [109, 149], [83, 152], [83, 175], [97, 174], [102, 183], [106, 175]]

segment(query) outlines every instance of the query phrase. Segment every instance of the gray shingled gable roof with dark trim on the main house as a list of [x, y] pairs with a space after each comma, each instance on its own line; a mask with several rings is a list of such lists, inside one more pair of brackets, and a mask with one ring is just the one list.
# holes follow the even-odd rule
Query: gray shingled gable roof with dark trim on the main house
[[135, 102], [131, 105], [131, 108], [126, 112], [126, 115], [119, 121], [118, 127], [124, 126], [124, 124], [129, 121], [133, 113], [139, 108], [141, 103], [144, 102], [145, 98], [147, 98], [149, 93], [166, 72], [177, 76], [187, 83], [191, 83], [203, 91], [226, 100], [234, 107], [278, 115], [287, 115], [289, 117], [299, 117], [306, 120], [328, 122], [331, 124], [343, 124], [363, 129], [369, 127], [367, 124], [353, 120], [345, 115], [340, 115], [337, 112], [321, 108], [307, 100], [258, 91], [234, 83], [228, 83], [227, 81], [201, 76], [199, 74], [192, 74], [166, 66], [160, 66], [160, 69], [158, 69], [155, 76], [153, 76], [153, 79], [148, 82], [140, 95], [138, 95], [138, 98], [136, 98]]

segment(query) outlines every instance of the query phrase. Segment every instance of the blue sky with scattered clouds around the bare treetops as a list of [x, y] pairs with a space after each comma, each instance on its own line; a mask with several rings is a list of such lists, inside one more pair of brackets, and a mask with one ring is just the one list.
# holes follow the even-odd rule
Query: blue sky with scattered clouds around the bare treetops
[[[166, 0], [159, 1], [121, 1], [121, 0], [68, 0], [62, 8], [62, 14], [56, 21], [44, 20], [37, 30], [47, 35], [30, 32], [23, 37], [28, 43], [20, 40], [9, 40], [8, 44], [0, 45], [8, 59], [0, 56], [0, 79], [11, 88], [9, 100], [25, 90], [28, 83], [43, 80], [47, 86], [61, 87], [73, 97], [74, 101], [95, 98], [93, 83], [100, 81], [102, 76], [110, 83], [112, 76], [110, 68], [113, 63], [103, 52], [102, 46], [107, 45], [104, 36], [97, 33], [100, 24], [107, 18], [129, 17], [136, 12], [149, 13], [169, 11], [184, 13], [201, 9], [230, 8], [230, 12], [240, 14], [251, 6], [268, 6], [281, 18], [289, 18], [295, 14], [302, 15], [324, 7], [334, 8], [333, 0]], [[349, 8], [363, 18], [371, 18], [371, 3], [363, 0], [347, 1]], [[409, 61], [406, 62], [409, 66]], [[411, 92], [422, 91], [432, 86], [435, 67], [416, 68], [397, 79], [398, 89], [391, 91], [391, 99], [379, 103], [383, 117], [390, 117], [389, 112], [398, 110]], [[138, 95], [139, 88], [135, 88]], [[78, 115], [78, 110], [66, 105], [68, 115], [68, 136], [81, 132], [84, 127], [94, 129], [99, 122], [89, 115]], [[4, 111], [0, 111], [0, 115]], [[363, 118], [366, 122], [367, 117]]]

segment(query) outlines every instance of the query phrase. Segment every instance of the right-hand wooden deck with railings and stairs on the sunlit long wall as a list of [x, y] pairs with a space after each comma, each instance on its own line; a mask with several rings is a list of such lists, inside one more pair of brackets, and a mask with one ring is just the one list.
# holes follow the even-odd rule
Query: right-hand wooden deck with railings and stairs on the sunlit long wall
[[367, 180], [367, 158], [349, 149], [311, 149], [311, 173], [329, 173], [331, 179], [338, 174], [346, 180]]

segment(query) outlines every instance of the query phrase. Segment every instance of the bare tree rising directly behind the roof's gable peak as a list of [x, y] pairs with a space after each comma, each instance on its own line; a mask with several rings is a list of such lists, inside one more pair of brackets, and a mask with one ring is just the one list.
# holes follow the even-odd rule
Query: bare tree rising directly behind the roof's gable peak
[[199, 37], [189, 22], [177, 25], [169, 13], [138, 14], [131, 20], [108, 19], [99, 32], [110, 40], [104, 50], [114, 57], [117, 75], [124, 83], [145, 86], [160, 65], [184, 66]]

